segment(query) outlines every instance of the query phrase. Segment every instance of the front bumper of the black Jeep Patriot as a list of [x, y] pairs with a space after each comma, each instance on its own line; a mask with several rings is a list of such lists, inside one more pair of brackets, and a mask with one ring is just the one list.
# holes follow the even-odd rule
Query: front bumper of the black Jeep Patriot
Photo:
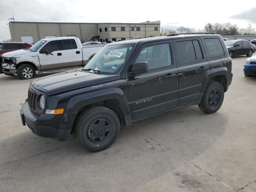
[[20, 109], [22, 124], [26, 124], [30, 130], [41, 137], [57, 138], [60, 141], [68, 140], [72, 130], [76, 114], [33, 114], [26, 101]]

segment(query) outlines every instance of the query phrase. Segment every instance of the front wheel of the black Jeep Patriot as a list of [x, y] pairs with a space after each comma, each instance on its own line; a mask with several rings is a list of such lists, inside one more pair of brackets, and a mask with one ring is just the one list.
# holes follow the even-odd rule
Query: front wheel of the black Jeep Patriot
[[116, 140], [120, 130], [116, 114], [103, 106], [89, 108], [79, 115], [74, 134], [80, 146], [90, 152], [102, 151]]

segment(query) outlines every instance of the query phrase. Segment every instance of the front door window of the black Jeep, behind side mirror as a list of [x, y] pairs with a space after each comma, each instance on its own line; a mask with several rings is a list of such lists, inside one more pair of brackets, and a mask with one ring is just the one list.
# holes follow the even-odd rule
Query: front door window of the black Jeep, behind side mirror
[[172, 57], [169, 43], [142, 48], [135, 62], [148, 62], [149, 70], [171, 66]]

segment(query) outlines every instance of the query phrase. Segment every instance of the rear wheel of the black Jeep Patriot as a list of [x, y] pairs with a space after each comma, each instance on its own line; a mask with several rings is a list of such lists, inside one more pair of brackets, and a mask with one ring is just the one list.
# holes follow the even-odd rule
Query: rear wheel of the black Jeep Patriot
[[201, 103], [198, 105], [200, 110], [206, 113], [218, 111], [224, 100], [224, 89], [219, 82], [210, 82], [206, 88]]

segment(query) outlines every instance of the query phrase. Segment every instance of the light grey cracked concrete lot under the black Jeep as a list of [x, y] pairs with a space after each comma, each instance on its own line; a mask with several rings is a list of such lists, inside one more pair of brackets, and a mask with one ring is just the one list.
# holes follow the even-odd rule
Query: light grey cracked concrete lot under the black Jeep
[[0, 191], [255, 192], [256, 77], [244, 77], [246, 58], [233, 58], [233, 81], [215, 114], [198, 106], [167, 112], [122, 130], [98, 153], [73, 135], [58, 142], [22, 126], [31, 80], [0, 74]]

